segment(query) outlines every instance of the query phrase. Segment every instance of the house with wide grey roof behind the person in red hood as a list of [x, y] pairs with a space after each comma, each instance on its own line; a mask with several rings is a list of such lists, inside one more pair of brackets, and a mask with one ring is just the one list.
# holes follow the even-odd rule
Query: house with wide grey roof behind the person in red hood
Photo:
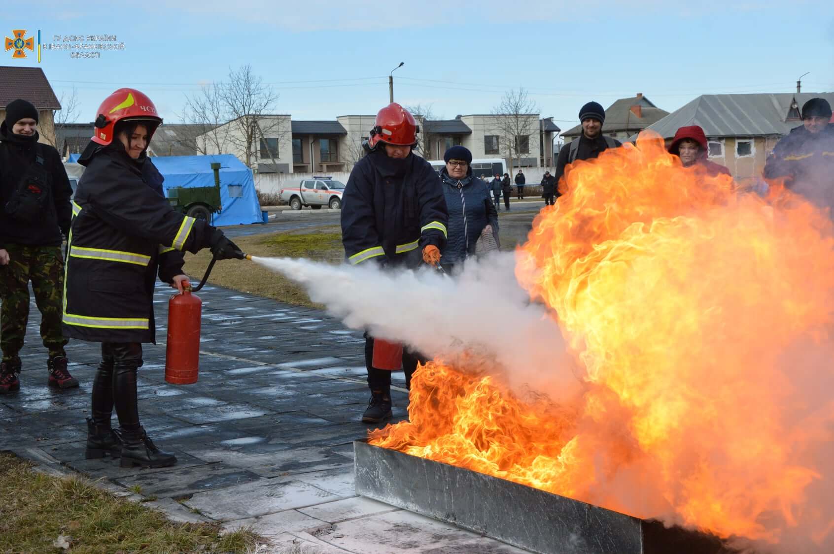
[[834, 92], [704, 94], [646, 129], [668, 142], [680, 127], [700, 125], [711, 161], [736, 179], [756, 178], [776, 142], [802, 124], [802, 105], [814, 97], [834, 105]]

